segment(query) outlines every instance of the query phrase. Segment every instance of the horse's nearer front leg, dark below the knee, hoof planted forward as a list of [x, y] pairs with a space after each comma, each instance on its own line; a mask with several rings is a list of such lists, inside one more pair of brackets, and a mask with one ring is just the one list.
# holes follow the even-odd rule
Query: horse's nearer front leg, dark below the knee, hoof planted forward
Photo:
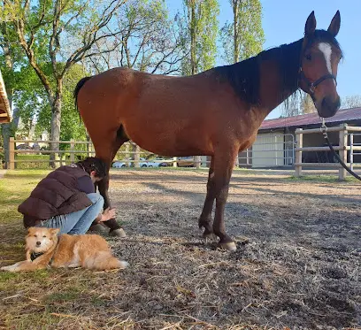
[[238, 150], [221, 150], [214, 155], [214, 182], [212, 195], [216, 197], [216, 211], [213, 222], [213, 232], [219, 236], [219, 247], [235, 250], [234, 241], [227, 235], [225, 226], [225, 206], [228, 197], [229, 181], [231, 179], [234, 159]]

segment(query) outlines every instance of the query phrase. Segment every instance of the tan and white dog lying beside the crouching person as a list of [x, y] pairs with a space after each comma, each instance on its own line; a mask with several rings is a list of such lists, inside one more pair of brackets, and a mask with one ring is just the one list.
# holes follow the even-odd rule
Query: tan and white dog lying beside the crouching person
[[48, 267], [83, 267], [91, 270], [124, 269], [126, 261], [111, 255], [103, 237], [97, 234], [60, 234], [58, 228], [29, 227], [26, 236], [26, 258], [3, 271], [35, 271]]

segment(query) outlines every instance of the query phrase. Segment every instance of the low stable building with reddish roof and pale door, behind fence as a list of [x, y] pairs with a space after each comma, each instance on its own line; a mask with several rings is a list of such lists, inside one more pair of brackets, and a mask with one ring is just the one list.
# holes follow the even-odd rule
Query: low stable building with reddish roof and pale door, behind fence
[[[342, 124], [361, 127], [361, 108], [342, 109], [334, 117], [327, 118], [326, 126], [335, 127]], [[296, 128], [311, 129], [321, 127], [317, 112], [301, 116], [265, 120], [258, 129], [257, 140], [249, 150], [248, 162], [252, 168], [269, 168], [292, 166], [295, 162]], [[328, 133], [333, 145], [338, 145], [338, 132]], [[361, 135], [354, 134], [354, 143], [361, 143]], [[360, 144], [361, 145], [361, 144]], [[326, 146], [321, 132], [303, 135], [303, 147]], [[240, 165], [244, 165], [245, 152], [240, 153]], [[304, 163], [334, 163], [331, 151], [303, 151]], [[361, 155], [354, 157], [354, 162], [361, 162]]]

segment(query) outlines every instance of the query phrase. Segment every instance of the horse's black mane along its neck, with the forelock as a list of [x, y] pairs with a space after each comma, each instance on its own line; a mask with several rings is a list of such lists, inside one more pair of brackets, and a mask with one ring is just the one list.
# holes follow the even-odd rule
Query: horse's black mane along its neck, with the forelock
[[[316, 30], [309, 39], [313, 42], [328, 42], [341, 50], [333, 35], [325, 30]], [[261, 51], [253, 58], [245, 59], [234, 65], [215, 67], [221, 79], [226, 79], [234, 88], [234, 92], [249, 104], [257, 105], [260, 100], [260, 64], [264, 60], [274, 60], [278, 64], [283, 88], [280, 97], [285, 98], [289, 91], [298, 90], [298, 71], [300, 68], [303, 38], [289, 44], [283, 44], [270, 50]], [[307, 49], [308, 47], [306, 47]]]

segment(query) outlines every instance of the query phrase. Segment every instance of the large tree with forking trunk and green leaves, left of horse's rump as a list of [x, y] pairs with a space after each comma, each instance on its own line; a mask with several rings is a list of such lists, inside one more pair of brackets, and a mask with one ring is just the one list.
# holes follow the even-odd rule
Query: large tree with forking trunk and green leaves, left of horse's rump
[[[50, 139], [60, 138], [62, 94], [66, 73], [93, 53], [96, 42], [117, 35], [111, 19], [126, 0], [4, 0], [18, 42], [42, 82], [51, 109]], [[48, 71], [47, 63], [50, 63]], [[58, 150], [58, 143], [51, 149]]]

